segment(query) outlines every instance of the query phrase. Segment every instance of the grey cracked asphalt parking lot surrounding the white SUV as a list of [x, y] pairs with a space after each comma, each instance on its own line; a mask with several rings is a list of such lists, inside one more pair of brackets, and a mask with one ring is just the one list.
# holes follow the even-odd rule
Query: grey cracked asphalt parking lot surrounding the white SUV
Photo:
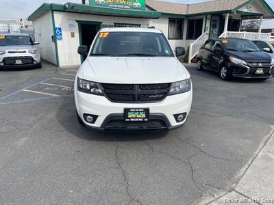
[[186, 68], [188, 121], [148, 133], [80, 126], [76, 68], [0, 71], [1, 204], [198, 204], [234, 189], [274, 123], [274, 79]]

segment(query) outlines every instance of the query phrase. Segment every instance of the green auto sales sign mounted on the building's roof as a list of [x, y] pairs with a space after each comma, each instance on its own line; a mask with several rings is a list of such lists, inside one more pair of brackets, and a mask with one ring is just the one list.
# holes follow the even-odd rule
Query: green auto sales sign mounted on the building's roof
[[90, 5], [103, 5], [112, 8], [145, 10], [145, 0], [90, 0]]

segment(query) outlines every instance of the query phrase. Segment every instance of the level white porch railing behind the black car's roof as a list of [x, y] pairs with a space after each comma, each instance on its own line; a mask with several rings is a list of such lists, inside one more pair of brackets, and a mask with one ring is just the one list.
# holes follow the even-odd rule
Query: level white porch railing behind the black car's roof
[[219, 36], [219, 38], [244, 38], [244, 39], [257, 39], [257, 38], [270, 38], [271, 33], [253, 33], [253, 32], [236, 32], [236, 31], [226, 31]]

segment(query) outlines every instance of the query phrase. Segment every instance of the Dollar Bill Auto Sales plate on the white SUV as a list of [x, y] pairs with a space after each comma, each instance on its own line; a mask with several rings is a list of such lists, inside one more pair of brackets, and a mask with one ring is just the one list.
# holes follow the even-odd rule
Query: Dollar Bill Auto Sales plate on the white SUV
[[125, 121], [148, 121], [149, 109], [148, 108], [125, 108], [124, 110]]

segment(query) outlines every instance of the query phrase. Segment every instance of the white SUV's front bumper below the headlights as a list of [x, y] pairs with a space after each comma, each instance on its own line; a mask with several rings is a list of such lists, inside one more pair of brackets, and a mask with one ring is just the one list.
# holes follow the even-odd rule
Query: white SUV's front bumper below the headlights
[[[104, 129], [158, 129], [176, 128], [182, 126], [188, 117], [192, 103], [192, 90], [184, 94], [167, 96], [161, 102], [152, 103], [117, 103], [110, 102], [105, 96], [96, 96], [78, 92], [75, 89], [75, 105], [77, 113], [86, 126]], [[149, 121], [136, 124], [125, 123], [123, 112], [125, 108], [149, 108]], [[98, 115], [94, 124], [84, 120], [84, 114]], [[174, 115], [185, 113], [182, 122], [176, 122]]]

